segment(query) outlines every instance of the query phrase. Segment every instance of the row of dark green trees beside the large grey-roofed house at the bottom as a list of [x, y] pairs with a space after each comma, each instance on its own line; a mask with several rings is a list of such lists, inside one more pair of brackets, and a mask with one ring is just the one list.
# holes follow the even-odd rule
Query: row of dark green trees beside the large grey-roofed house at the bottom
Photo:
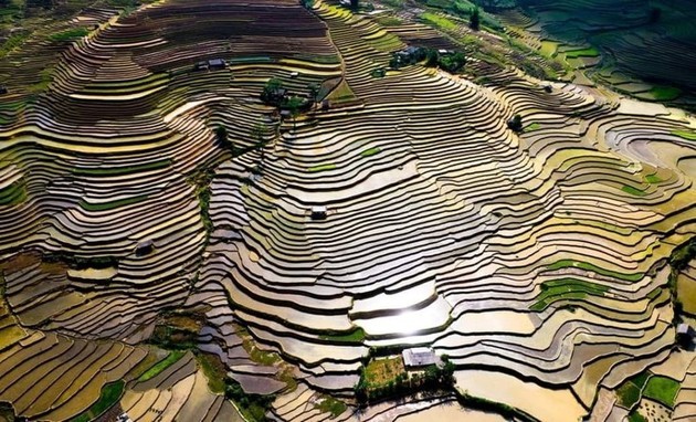
[[401, 372], [393, 380], [379, 386], [371, 386], [368, 382], [363, 368], [360, 380], [354, 388], [356, 399], [360, 403], [369, 403], [421, 391], [450, 390], [455, 382], [454, 363], [447, 356], [442, 357], [442, 367], [431, 365], [425, 367], [423, 372], [414, 372], [411, 377]]

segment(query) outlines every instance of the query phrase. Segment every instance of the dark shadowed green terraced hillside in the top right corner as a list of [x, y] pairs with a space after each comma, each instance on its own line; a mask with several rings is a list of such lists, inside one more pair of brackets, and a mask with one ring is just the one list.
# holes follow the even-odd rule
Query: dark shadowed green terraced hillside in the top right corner
[[[573, 68], [591, 70], [598, 81], [639, 98], [694, 108], [696, 45], [689, 23], [696, 9], [679, 1], [519, 0], [526, 17], [505, 13], [508, 24], [541, 54], [558, 54]], [[518, 19], [510, 19], [510, 18]], [[579, 80], [580, 81], [580, 80]]]

